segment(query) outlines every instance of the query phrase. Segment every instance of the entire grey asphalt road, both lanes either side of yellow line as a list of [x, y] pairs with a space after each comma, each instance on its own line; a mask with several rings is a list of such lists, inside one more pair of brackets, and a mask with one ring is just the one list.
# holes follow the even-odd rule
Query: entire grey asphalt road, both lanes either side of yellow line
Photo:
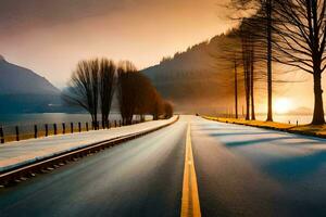
[[180, 216], [188, 122], [202, 216], [326, 216], [325, 139], [193, 116], [0, 190], [0, 216]]

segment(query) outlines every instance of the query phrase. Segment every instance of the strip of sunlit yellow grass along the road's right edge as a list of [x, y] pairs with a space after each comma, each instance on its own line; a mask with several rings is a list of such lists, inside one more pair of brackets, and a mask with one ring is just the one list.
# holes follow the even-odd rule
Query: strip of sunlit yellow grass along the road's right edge
[[280, 131], [287, 131], [298, 135], [306, 135], [313, 137], [326, 138], [326, 125], [291, 125], [283, 124], [276, 122], [263, 122], [263, 120], [246, 120], [243, 118], [226, 118], [226, 117], [212, 117], [212, 116], [202, 116], [205, 119], [229, 123], [237, 125], [246, 125], [251, 127], [260, 127], [266, 129], [274, 129]]

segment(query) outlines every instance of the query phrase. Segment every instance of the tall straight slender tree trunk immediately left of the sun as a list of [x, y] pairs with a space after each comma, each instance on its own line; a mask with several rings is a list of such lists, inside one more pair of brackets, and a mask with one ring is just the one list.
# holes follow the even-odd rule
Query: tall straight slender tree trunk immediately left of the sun
[[272, 0], [266, 1], [267, 16], [267, 122], [273, 122], [272, 86]]

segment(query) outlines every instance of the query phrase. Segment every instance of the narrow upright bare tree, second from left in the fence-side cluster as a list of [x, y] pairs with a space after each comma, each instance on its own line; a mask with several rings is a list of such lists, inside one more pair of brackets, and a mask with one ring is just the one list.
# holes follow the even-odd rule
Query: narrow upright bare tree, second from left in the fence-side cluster
[[109, 127], [109, 115], [114, 93], [116, 66], [113, 61], [102, 59], [99, 62], [100, 104], [102, 113], [102, 127]]

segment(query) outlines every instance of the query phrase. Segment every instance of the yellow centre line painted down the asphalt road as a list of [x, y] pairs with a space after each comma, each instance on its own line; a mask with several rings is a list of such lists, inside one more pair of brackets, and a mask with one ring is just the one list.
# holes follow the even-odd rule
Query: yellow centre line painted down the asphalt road
[[181, 217], [201, 217], [197, 178], [191, 148], [190, 124], [186, 138], [186, 158], [181, 201]]

